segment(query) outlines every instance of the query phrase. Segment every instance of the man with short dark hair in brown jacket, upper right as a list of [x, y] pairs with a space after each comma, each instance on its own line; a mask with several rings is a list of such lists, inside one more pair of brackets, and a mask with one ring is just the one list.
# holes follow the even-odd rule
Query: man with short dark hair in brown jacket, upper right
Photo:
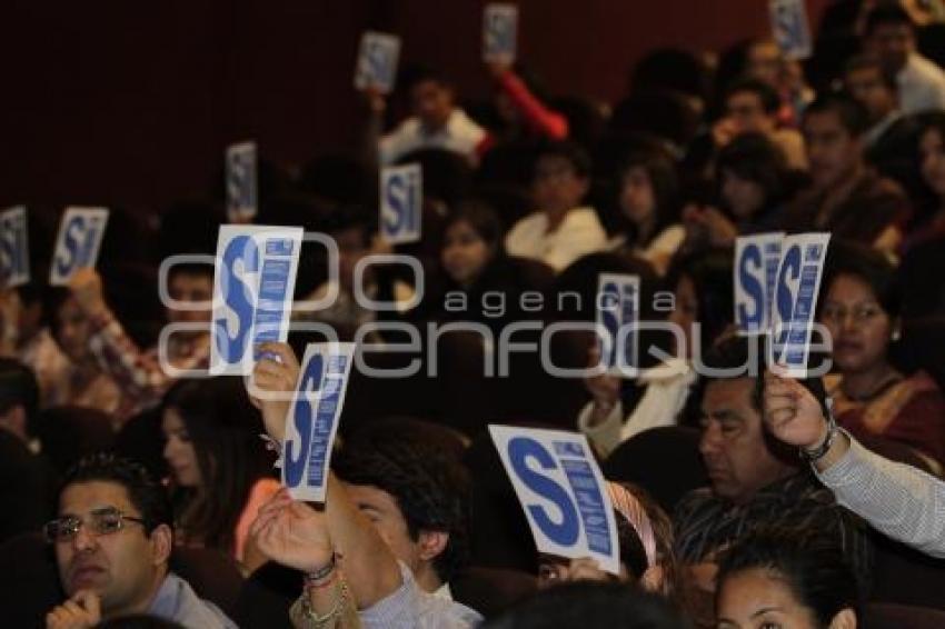
[[810, 187], [787, 212], [788, 231], [830, 231], [894, 253], [908, 221], [908, 198], [867, 163], [863, 134], [869, 116], [858, 101], [836, 93], [817, 98], [804, 112]]

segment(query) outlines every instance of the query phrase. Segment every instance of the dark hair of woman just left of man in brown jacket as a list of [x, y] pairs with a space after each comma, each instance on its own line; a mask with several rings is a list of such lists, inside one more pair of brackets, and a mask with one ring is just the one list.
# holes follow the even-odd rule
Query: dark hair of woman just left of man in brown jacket
[[717, 171], [729, 171], [739, 179], [762, 187], [764, 207], [784, 200], [788, 192], [788, 168], [784, 153], [762, 133], [740, 133], [722, 148]]

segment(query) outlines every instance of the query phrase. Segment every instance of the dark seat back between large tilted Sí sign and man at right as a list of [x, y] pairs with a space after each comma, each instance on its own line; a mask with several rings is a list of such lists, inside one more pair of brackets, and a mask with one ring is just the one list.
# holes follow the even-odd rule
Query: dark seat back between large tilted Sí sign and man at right
[[667, 513], [689, 491], [709, 483], [699, 455], [699, 432], [668, 426], [624, 441], [604, 461], [604, 476], [646, 489]]

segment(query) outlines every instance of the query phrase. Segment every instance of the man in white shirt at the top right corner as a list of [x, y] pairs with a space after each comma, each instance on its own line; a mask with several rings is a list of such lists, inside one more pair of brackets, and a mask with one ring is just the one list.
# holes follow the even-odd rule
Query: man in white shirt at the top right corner
[[915, 24], [898, 4], [883, 4], [866, 19], [866, 44], [896, 77], [904, 113], [945, 109], [945, 72], [916, 52]]

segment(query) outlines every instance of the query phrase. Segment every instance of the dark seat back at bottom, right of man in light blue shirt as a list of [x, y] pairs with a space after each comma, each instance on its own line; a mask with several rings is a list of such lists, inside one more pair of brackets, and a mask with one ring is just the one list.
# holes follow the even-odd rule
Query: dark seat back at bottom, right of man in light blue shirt
[[468, 568], [449, 582], [454, 600], [475, 609], [486, 619], [499, 616], [538, 590], [534, 575], [518, 570]]

